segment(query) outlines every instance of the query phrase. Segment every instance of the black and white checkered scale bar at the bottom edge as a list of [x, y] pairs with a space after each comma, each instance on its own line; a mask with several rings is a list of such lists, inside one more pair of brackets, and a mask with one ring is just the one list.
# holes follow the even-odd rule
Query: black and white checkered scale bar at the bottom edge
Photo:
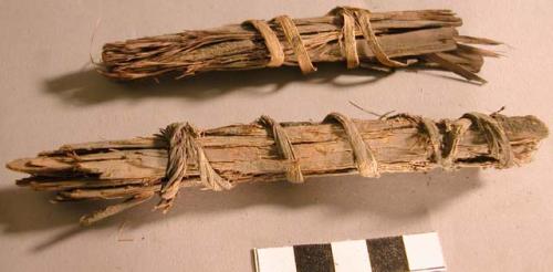
[[253, 250], [257, 272], [445, 272], [435, 232]]

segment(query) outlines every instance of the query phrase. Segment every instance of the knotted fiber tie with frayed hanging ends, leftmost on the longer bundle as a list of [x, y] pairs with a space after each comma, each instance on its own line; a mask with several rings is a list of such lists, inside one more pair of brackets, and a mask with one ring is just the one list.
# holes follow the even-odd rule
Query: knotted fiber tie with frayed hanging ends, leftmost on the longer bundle
[[174, 123], [161, 129], [160, 136], [168, 142], [167, 168], [165, 182], [159, 192], [161, 200], [156, 209], [167, 211], [175, 200], [182, 179], [187, 175], [188, 165], [196, 164], [200, 175], [200, 184], [206, 189], [220, 191], [231, 189], [232, 182], [213, 170], [197, 138], [200, 132], [189, 123]]

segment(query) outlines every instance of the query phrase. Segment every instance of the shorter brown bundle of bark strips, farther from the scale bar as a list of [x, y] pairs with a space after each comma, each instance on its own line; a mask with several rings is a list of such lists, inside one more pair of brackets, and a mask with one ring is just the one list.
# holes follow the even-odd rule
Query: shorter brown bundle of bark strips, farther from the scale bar
[[[499, 44], [459, 35], [462, 21], [450, 10], [369, 12], [338, 7], [307, 19], [248, 20], [212, 30], [148, 36], [103, 46], [98, 72], [117, 80], [178, 77], [208, 71], [281, 65], [315, 72], [313, 63], [343, 62], [348, 69], [435, 67], [484, 83], [483, 56], [497, 53], [470, 44]], [[395, 60], [392, 60], [394, 57]]]

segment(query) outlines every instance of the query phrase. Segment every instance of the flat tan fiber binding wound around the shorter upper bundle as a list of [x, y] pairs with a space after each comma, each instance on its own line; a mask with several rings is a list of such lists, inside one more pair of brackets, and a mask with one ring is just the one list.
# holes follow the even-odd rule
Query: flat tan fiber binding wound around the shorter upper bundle
[[[338, 36], [338, 43], [341, 45], [344, 57], [346, 59], [346, 64], [348, 69], [354, 69], [359, 66], [359, 55], [357, 53], [357, 43], [355, 29], [358, 27], [363, 33], [363, 36], [373, 51], [376, 60], [388, 67], [405, 67], [413, 64], [415, 61], [410, 60], [406, 63], [392, 60], [382, 48], [376, 36], [373, 25], [371, 24], [371, 11], [365, 9], [349, 8], [349, 7], [338, 7], [328, 12], [330, 15], [335, 15], [343, 20], [342, 32]], [[288, 15], [280, 15], [273, 20], [276, 22], [288, 41], [292, 46], [292, 50], [298, 59], [298, 65], [300, 70], [304, 73], [312, 73], [316, 71], [313, 66], [309, 51], [301, 38], [298, 28], [293, 20]], [[271, 29], [270, 24], [263, 20], [248, 20], [244, 24], [251, 24], [263, 38], [265, 46], [269, 51], [270, 60], [267, 66], [278, 67], [281, 66], [285, 61], [284, 46], [281, 44], [279, 36]]]

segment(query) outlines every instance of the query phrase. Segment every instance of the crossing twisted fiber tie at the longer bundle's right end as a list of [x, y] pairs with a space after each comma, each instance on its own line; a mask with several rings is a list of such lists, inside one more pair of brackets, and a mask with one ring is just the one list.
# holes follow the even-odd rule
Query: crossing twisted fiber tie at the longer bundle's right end
[[451, 122], [444, 121], [446, 134], [444, 137], [436, 122], [420, 116], [399, 114], [389, 118], [403, 117], [417, 124], [419, 129], [428, 138], [432, 149], [431, 158], [434, 163], [446, 169], [455, 167], [459, 144], [465, 133], [474, 126], [480, 130], [488, 143], [490, 156], [498, 161], [498, 168], [508, 168], [514, 164], [513, 151], [504, 128], [494, 119], [494, 115], [481, 113], [467, 113], [461, 118]]

